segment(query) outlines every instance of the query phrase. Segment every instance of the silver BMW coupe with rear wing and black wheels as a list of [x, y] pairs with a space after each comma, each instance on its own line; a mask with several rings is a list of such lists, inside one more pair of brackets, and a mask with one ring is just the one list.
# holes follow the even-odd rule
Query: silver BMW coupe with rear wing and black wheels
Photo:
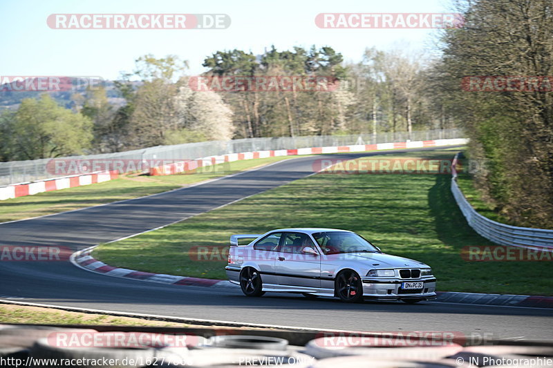
[[[244, 239], [254, 240], [238, 245]], [[277, 229], [232, 235], [230, 243], [227, 277], [246, 296], [281, 291], [344, 302], [407, 303], [436, 297], [436, 279], [427, 264], [383, 253], [352, 231]]]

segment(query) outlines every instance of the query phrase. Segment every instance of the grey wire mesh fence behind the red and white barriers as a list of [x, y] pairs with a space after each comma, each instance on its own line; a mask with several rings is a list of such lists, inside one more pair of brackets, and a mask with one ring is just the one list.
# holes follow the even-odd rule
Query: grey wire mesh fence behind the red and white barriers
[[[411, 135], [413, 141], [433, 139], [464, 138], [465, 133], [459, 129], [422, 130]], [[100, 155], [84, 155], [73, 157], [56, 157], [62, 159], [113, 159], [141, 160], [167, 159], [186, 161], [201, 157], [227, 155], [230, 153], [297, 149], [325, 146], [348, 146], [352, 144], [377, 144], [386, 142], [406, 142], [409, 135], [406, 132], [379, 133], [377, 135], [315, 135], [307, 137], [268, 137], [234, 139], [231, 141], [212, 141], [176, 144], [173, 146], [156, 146], [134, 151], [104, 153]], [[0, 162], [0, 186], [15, 183], [34, 182], [60, 176], [48, 172], [48, 162], [51, 159], [34, 159], [28, 161]]]

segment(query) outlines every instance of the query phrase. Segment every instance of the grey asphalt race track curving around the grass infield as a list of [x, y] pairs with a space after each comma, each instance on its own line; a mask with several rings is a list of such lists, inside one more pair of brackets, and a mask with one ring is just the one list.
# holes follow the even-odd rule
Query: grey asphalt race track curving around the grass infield
[[[394, 154], [402, 152], [393, 151]], [[340, 157], [382, 154], [385, 153], [346, 153]], [[55, 245], [77, 251], [194, 216], [306, 177], [312, 174], [312, 163], [321, 158], [324, 155], [289, 159], [256, 171], [159, 195], [0, 224], [0, 245]], [[551, 338], [553, 327], [551, 309], [440, 302], [344, 304], [332, 299], [308, 300], [294, 294], [276, 293], [265, 294], [263, 298], [246, 298], [240, 291], [232, 289], [113, 278], [79, 269], [70, 262], [0, 262], [0, 298], [315, 329], [461, 331], [493, 334], [494, 338]]]

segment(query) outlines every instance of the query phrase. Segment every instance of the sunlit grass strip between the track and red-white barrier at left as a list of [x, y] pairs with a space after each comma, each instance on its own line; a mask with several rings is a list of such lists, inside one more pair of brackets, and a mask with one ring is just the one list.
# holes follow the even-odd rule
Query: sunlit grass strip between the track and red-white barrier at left
[[50, 215], [52, 213], [82, 209], [84, 207], [97, 206], [98, 204], [170, 191], [181, 186], [214, 179], [291, 157], [297, 156], [246, 159], [227, 164], [207, 166], [207, 168], [203, 169], [204, 171], [200, 169], [197, 173], [155, 177], [122, 175], [120, 178], [109, 182], [4, 200], [0, 201], [0, 222]]

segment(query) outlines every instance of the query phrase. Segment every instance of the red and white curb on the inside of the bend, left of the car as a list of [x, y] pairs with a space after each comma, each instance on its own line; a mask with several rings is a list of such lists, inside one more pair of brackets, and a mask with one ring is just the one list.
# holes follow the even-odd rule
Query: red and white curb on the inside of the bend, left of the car
[[75, 266], [102, 275], [113, 276], [115, 278], [127, 278], [133, 280], [157, 282], [158, 284], [172, 284], [189, 287], [216, 287], [239, 289], [238, 285], [231, 284], [226, 280], [213, 280], [209, 278], [190, 278], [176, 275], [166, 275], [165, 273], [151, 273], [144, 271], [135, 271], [131, 269], [122, 269], [105, 264], [92, 257], [91, 251], [96, 246], [77, 251], [71, 255], [71, 263]]

